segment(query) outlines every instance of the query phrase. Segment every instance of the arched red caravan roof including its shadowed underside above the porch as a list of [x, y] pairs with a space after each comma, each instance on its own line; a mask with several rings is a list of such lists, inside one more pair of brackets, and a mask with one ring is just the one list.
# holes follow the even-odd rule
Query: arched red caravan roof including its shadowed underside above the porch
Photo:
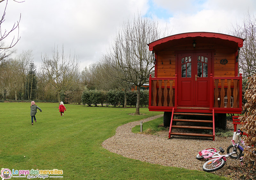
[[176, 34], [168, 36], [148, 44], [150, 51], [159, 52], [167, 47], [179, 46], [182, 44], [190, 44], [192, 46], [193, 41], [197, 44], [219, 44], [228, 46], [230, 48], [238, 49], [243, 47], [244, 40], [235, 36], [227, 34], [213, 33], [213, 32], [188, 32], [182, 34]]

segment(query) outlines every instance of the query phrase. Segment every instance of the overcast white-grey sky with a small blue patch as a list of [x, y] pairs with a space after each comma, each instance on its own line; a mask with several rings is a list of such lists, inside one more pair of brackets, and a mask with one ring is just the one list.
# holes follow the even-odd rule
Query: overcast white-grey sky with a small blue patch
[[[6, 0], [5, 0], [6, 2]], [[5, 2], [0, 3], [2, 16]], [[227, 33], [249, 11], [256, 15], [255, 0], [8, 0], [2, 31], [20, 20], [17, 54], [31, 49], [37, 67], [41, 54], [64, 46], [65, 54], [79, 56], [80, 69], [99, 61], [116, 29], [137, 12], [159, 20], [169, 35], [183, 32]], [[17, 32], [10, 37], [17, 36]], [[8, 43], [5, 42], [6, 44]], [[149, 42], [148, 42], [149, 43]], [[14, 55], [14, 56], [16, 56]]]

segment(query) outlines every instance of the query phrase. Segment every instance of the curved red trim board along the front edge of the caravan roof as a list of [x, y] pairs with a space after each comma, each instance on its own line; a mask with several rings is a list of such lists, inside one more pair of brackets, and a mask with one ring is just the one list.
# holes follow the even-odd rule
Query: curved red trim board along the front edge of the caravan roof
[[223, 40], [234, 41], [234, 42], [237, 43], [238, 47], [243, 47], [243, 42], [244, 42], [244, 40], [242, 38], [238, 38], [238, 37], [235, 37], [235, 36], [230, 36], [230, 35], [227, 35], [227, 34], [220, 34], [220, 33], [213, 33], [213, 32], [188, 32], [188, 33], [182, 33], [182, 34], [176, 34], [176, 35], [168, 36], [168, 37], [153, 41], [153, 42], [148, 44], [149, 51], [152, 51], [153, 48], [156, 45], [159, 45], [161, 43], [165, 43], [167, 41], [177, 40], [177, 39], [181, 39], [181, 38], [187, 38], [187, 37], [220, 38], [220, 39], [223, 39]]

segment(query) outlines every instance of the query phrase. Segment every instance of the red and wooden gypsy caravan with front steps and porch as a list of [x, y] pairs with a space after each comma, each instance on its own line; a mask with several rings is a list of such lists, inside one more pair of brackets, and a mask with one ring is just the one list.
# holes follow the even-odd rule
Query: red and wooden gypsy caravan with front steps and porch
[[[189, 32], [148, 46], [155, 54], [155, 77], [149, 77], [149, 111], [164, 112], [164, 126], [170, 126], [169, 138], [190, 135], [214, 140], [215, 125], [226, 127], [226, 113], [242, 111], [238, 54], [243, 39]], [[173, 115], [194, 118], [174, 119]], [[173, 132], [176, 128], [200, 129], [200, 133]], [[211, 133], [201, 133], [203, 130]]]

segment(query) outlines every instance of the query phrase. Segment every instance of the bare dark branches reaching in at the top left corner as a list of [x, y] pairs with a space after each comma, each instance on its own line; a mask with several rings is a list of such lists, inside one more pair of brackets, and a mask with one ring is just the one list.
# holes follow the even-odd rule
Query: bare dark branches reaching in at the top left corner
[[[15, 1], [15, 0], [13, 0]], [[17, 21], [17, 23], [14, 23], [13, 26], [9, 29], [6, 30], [5, 28], [3, 28], [3, 24], [5, 21], [5, 11], [7, 8], [7, 4], [8, 4], [8, 0], [0, 0], [0, 3], [6, 2], [5, 4], [5, 8], [4, 8], [4, 12], [2, 15], [2, 18], [0, 20], [0, 61], [2, 61], [3, 59], [9, 57], [14, 50], [10, 50], [12, 47], [14, 47], [18, 41], [20, 40], [20, 36], [19, 36], [19, 24], [20, 24], [20, 18], [21, 18], [21, 14], [20, 14], [20, 18]], [[21, 3], [21, 1], [15, 1], [17, 3]], [[22, 1], [24, 2], [24, 1]], [[14, 32], [15, 30], [18, 30], [18, 35], [17, 37], [13, 36], [12, 41], [8, 44], [4, 43], [4, 40], [9, 37], [11, 35], [12, 32]]]

